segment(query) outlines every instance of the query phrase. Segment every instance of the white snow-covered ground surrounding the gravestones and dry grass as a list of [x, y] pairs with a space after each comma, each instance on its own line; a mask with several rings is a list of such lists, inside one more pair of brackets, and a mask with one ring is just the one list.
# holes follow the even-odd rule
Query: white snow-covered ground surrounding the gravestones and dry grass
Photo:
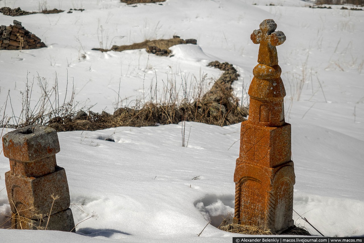
[[[113, 112], [136, 99], [149, 100], [150, 87], [156, 84], [162, 93], [167, 82], [194, 85], [204, 74], [219, 77], [221, 71], [206, 67], [215, 60], [239, 70], [234, 90], [241, 97], [257, 63], [258, 45], [250, 34], [262, 20], [274, 19], [277, 30], [287, 36], [277, 50], [287, 92], [286, 121], [292, 124], [293, 208], [326, 236], [364, 235], [364, 11], [313, 9], [301, 0], [167, 0], [137, 7], [118, 0], [1, 0], [0, 7], [5, 5], [25, 11], [85, 9], [0, 14], [0, 24], [9, 26], [16, 19], [48, 46], [0, 51], [0, 105], [10, 90], [15, 112], [27, 74], [34, 82], [34, 102], [38, 74], [50, 86], [57, 77], [63, 97], [68, 72], [75, 100], [94, 105], [92, 111]], [[91, 50], [172, 35], [195, 38], [198, 46], [174, 46], [173, 57], [145, 50]], [[119, 83], [123, 103], [116, 104]], [[9, 105], [5, 114], [11, 115]], [[210, 219], [216, 225], [233, 212], [240, 124], [187, 122], [187, 147], [182, 147], [181, 128], [173, 124], [58, 133], [57, 162], [66, 169], [71, 203], [83, 209], [71, 206], [75, 223], [92, 212], [98, 219], [80, 223], [77, 234], [0, 229], [0, 241], [231, 242], [237, 235], [213, 225], [197, 234]], [[115, 143], [103, 140], [109, 137]], [[1, 155], [0, 190], [8, 170], [9, 161]], [[4, 189], [0, 213], [9, 212]], [[295, 213], [293, 219], [318, 234]]]

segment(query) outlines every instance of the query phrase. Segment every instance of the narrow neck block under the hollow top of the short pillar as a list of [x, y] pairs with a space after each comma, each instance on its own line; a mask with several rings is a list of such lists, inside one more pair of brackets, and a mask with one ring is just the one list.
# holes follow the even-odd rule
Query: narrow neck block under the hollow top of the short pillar
[[16, 161], [10, 159], [10, 171], [13, 175], [26, 177], [40, 177], [56, 170], [56, 155], [37, 159], [30, 162]]

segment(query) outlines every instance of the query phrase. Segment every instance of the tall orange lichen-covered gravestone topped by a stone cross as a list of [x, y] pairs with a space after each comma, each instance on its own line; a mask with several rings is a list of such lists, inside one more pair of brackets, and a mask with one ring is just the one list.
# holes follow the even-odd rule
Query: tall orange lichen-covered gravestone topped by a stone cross
[[277, 24], [273, 19], [264, 20], [259, 27], [250, 36], [260, 47], [248, 91], [249, 119], [241, 123], [233, 223], [261, 226], [279, 234], [293, 226], [295, 183], [291, 125], [284, 120], [286, 92], [276, 49], [286, 36], [274, 31]]

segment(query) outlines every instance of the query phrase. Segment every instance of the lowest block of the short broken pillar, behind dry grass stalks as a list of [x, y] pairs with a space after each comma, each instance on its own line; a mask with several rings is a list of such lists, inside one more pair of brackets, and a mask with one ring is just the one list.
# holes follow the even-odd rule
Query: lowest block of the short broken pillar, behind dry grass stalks
[[11, 216], [12, 229], [45, 229], [47, 226], [47, 230], [59, 230], [67, 232], [76, 231], [75, 222], [70, 208], [52, 214], [49, 217], [48, 225], [47, 222], [48, 222], [48, 217], [34, 220], [34, 219], [28, 219], [23, 216], [19, 216], [15, 213], [12, 213]]

